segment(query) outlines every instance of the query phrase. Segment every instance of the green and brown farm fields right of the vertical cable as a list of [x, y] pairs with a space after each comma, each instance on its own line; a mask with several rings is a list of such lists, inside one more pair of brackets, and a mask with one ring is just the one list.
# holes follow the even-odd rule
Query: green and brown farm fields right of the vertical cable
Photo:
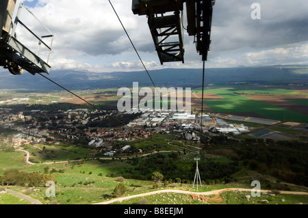
[[[244, 87], [242, 85], [207, 88], [205, 105], [209, 108], [209, 112], [214, 113], [306, 123], [308, 105], [305, 89], [308, 87], [302, 87], [302, 90], [293, 90], [290, 87]], [[198, 97], [201, 96], [201, 90], [192, 92]], [[217, 97], [214, 98], [214, 95]], [[194, 99], [194, 104], [197, 103]]]

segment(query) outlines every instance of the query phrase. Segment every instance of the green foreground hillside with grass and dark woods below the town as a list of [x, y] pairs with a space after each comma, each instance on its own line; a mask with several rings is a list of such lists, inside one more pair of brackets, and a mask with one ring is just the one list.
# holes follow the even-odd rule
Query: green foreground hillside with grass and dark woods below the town
[[[159, 152], [150, 156], [137, 157], [129, 159], [114, 160], [80, 160], [77, 162], [68, 161], [66, 163], [26, 165], [22, 152], [4, 152], [0, 151], [0, 175], [5, 174], [6, 169], [18, 169], [19, 172], [33, 173], [42, 175], [52, 175], [55, 180], [55, 197], [47, 197], [45, 191], [47, 187], [10, 186], [2, 187], [25, 193], [30, 197], [40, 200], [43, 204], [92, 204], [112, 200], [113, 191], [120, 183], [119, 176], [124, 177], [123, 184], [127, 191], [123, 196], [136, 195], [149, 191], [163, 189], [180, 189], [187, 191], [196, 191], [192, 183], [196, 163], [193, 158], [195, 152], [189, 152], [189, 146], [175, 139], [170, 135], [157, 135], [157, 140], [165, 141], [164, 146], [159, 146], [155, 140], [144, 141], [144, 144], [136, 142], [136, 146], [145, 148], [153, 147], [155, 150], [170, 149], [173, 145], [182, 147], [183, 152]], [[251, 141], [249, 141], [251, 140]], [[253, 141], [253, 143], [252, 143]], [[168, 144], [171, 142], [171, 144]], [[294, 144], [274, 144], [273, 141], [246, 139], [248, 144], [255, 146], [239, 145], [238, 141], [231, 139], [220, 140], [219, 137], [209, 141], [211, 146], [203, 148], [201, 160], [199, 161], [199, 170], [203, 187], [198, 187], [198, 191], [211, 191], [225, 188], [251, 188], [251, 180], [259, 180], [261, 189], [287, 190], [287, 191], [307, 191], [301, 182], [307, 180], [305, 169], [307, 169], [307, 151], [305, 146]], [[147, 144], [147, 145], [146, 145]], [[168, 147], [170, 146], [170, 147]], [[54, 148], [45, 148], [46, 154], [59, 153], [57, 161], [67, 161], [73, 158], [73, 152], [78, 155], [88, 155], [91, 150], [58, 146], [57, 151], [49, 153]], [[183, 148], [186, 148], [183, 150]], [[32, 155], [40, 154], [40, 150], [26, 148]], [[162, 151], [162, 150], [161, 150]], [[65, 155], [66, 154], [66, 155]], [[292, 155], [290, 155], [292, 154]], [[42, 161], [51, 161], [53, 156], [36, 156], [36, 159], [42, 158]], [[47, 160], [46, 158], [49, 158]], [[39, 161], [40, 162], [40, 161]], [[153, 172], [161, 172], [164, 178], [155, 185], [151, 179]], [[291, 185], [287, 182], [295, 182], [298, 185]], [[0, 187], [1, 189], [1, 187]], [[217, 196], [209, 195], [206, 201], [194, 200], [191, 195], [164, 194], [146, 197], [149, 204], [262, 204], [261, 200], [267, 200], [268, 204], [307, 204], [307, 197], [302, 195], [281, 195], [279, 191], [276, 196], [264, 194], [261, 198], [247, 201], [244, 196], [249, 193], [227, 192], [221, 195], [218, 201]], [[3, 196], [3, 197], [2, 197]], [[199, 196], [201, 197], [201, 196]], [[14, 197], [13, 197], [14, 198]], [[177, 200], [174, 200], [176, 198]], [[244, 199], [244, 200], [243, 200]], [[11, 204], [12, 197], [8, 194], [1, 195], [2, 204]], [[122, 204], [136, 204], [140, 199], [133, 199]], [[24, 204], [25, 202], [20, 202]]]

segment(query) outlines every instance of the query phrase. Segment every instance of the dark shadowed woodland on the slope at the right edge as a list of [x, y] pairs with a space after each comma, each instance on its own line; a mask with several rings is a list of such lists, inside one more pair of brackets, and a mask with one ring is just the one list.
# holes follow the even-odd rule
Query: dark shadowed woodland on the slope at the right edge
[[[216, 140], [218, 141], [218, 140]], [[207, 153], [227, 156], [260, 174], [270, 174], [285, 182], [308, 186], [307, 144], [300, 141], [246, 139], [211, 144]]]

